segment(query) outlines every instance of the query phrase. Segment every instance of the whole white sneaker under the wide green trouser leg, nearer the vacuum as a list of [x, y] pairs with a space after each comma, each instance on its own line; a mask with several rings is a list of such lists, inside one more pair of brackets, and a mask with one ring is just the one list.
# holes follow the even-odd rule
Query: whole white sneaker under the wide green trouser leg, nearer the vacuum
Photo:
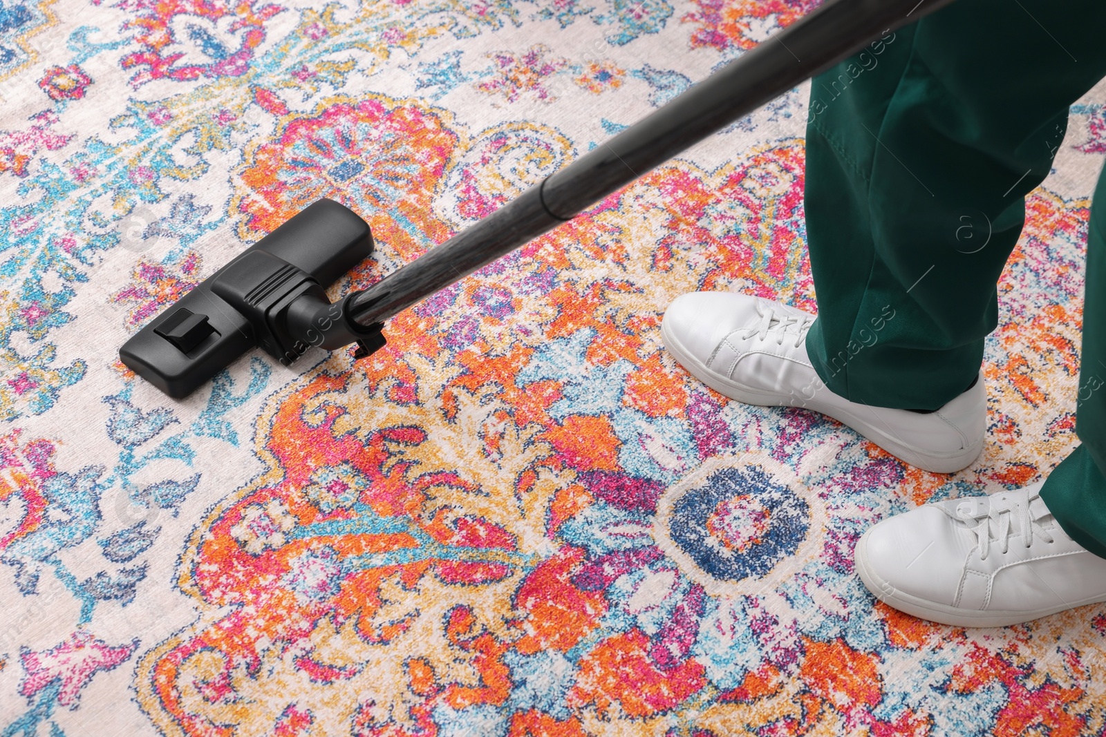
[[830, 391], [811, 366], [805, 339], [813, 322], [808, 313], [747, 294], [692, 292], [668, 306], [660, 334], [684, 368], [730, 399], [816, 410], [927, 471], [952, 473], [975, 460], [987, 425], [982, 373], [936, 412], [852, 402]]

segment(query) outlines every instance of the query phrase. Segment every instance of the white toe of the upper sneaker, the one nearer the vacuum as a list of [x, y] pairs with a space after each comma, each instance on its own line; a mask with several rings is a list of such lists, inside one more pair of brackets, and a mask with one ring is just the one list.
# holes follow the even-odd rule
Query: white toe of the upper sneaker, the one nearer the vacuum
[[706, 364], [733, 330], [759, 317], [757, 298], [731, 292], [692, 292], [672, 301], [661, 322], [666, 337]]

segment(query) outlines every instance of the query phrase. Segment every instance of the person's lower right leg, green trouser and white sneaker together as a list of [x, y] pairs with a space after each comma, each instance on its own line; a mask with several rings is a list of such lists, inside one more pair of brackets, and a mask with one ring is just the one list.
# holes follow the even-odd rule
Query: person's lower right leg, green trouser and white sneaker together
[[[1043, 483], [928, 504], [880, 522], [856, 570], [886, 603], [962, 627], [1015, 624], [1106, 601], [1106, 172], [1087, 229], [1075, 431]], [[999, 575], [1001, 571], [1001, 576]]]

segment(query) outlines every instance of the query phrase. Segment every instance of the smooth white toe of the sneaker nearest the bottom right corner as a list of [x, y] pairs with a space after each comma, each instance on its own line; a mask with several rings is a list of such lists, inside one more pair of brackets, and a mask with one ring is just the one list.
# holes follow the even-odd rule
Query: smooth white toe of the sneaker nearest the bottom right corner
[[[968, 549], [948, 516], [927, 505], [877, 524], [862, 538], [873, 593], [895, 592], [953, 606]], [[869, 587], [870, 588], [870, 587]]]

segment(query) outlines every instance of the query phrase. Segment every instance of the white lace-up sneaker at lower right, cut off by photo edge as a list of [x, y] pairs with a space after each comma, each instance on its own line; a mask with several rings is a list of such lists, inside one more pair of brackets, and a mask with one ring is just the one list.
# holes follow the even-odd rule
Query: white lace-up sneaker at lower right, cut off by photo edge
[[889, 517], [856, 544], [880, 601], [957, 627], [1005, 627], [1106, 601], [1106, 558], [1070, 538], [1033, 484]]

